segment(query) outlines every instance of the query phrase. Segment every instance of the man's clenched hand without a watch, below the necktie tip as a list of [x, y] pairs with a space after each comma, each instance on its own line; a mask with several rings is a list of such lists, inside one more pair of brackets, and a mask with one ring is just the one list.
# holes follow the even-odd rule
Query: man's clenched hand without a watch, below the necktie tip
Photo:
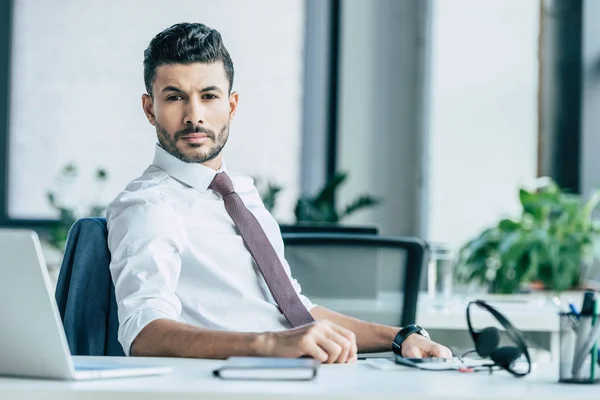
[[328, 364], [352, 363], [357, 358], [354, 333], [329, 321], [261, 335], [264, 335], [264, 353], [267, 357], [309, 356]]

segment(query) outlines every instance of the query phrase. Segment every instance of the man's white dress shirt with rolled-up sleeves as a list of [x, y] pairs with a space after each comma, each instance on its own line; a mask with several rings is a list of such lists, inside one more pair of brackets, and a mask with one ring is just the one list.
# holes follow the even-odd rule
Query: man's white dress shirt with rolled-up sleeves
[[[222, 197], [208, 189], [215, 174], [157, 145], [152, 165], [108, 206], [110, 271], [126, 355], [139, 332], [160, 318], [238, 332], [290, 328]], [[291, 277], [279, 225], [252, 179], [228, 175], [310, 310], [314, 304]]]

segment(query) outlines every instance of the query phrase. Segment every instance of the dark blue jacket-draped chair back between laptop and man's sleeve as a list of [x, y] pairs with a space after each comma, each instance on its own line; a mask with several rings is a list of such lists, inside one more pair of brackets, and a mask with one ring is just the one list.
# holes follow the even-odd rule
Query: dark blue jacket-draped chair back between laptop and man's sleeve
[[56, 302], [72, 355], [124, 356], [107, 236], [104, 218], [79, 219], [69, 230]]

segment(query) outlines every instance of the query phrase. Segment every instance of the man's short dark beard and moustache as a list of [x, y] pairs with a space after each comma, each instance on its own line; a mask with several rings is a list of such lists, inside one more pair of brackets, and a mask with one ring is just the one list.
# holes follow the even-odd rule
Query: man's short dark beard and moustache
[[[184, 143], [184, 149], [177, 147], [177, 142], [182, 137], [192, 133], [205, 134], [213, 142], [212, 146], [208, 147], [209, 145], [207, 143]], [[172, 156], [175, 156], [186, 163], [205, 163], [218, 156], [221, 153], [221, 150], [223, 150], [223, 147], [225, 147], [227, 139], [229, 138], [229, 124], [225, 124], [218, 135], [215, 134], [214, 131], [199, 125], [187, 127], [170, 135], [166, 129], [156, 123], [156, 135], [158, 137], [158, 142], [163, 149]], [[204, 150], [205, 148], [207, 149]]]

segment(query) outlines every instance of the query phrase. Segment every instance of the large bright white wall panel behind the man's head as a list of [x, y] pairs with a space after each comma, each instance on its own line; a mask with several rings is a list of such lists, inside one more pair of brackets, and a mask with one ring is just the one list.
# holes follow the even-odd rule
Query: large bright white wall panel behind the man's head
[[177, 22], [221, 32], [233, 58], [239, 111], [229, 169], [285, 187], [281, 220], [299, 186], [302, 0], [19, 0], [14, 7], [9, 215], [50, 218], [45, 192], [59, 169], [82, 169], [73, 202], [86, 203], [92, 170], [106, 167], [112, 199], [152, 161], [156, 136], [141, 109], [143, 51]]

